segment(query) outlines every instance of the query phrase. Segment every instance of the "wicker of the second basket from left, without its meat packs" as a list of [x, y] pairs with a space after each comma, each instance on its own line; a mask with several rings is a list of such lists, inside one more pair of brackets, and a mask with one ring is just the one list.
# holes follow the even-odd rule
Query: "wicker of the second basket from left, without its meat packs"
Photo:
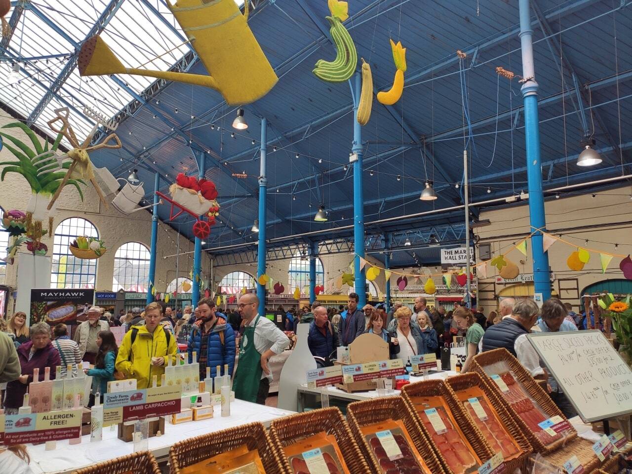
[[179, 474], [187, 466], [226, 453], [243, 444], [248, 446], [248, 451], [258, 450], [267, 474], [286, 474], [261, 423], [249, 423], [177, 442], [169, 449], [171, 474]]

